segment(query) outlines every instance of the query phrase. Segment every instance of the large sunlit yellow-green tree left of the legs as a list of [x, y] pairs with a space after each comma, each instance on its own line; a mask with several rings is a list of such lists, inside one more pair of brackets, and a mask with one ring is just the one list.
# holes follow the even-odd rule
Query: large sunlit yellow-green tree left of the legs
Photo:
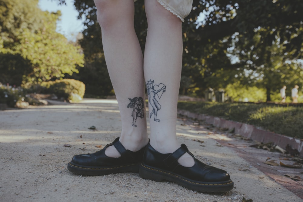
[[55, 32], [60, 15], [41, 11], [38, 0], [0, 2], [0, 82], [30, 86], [78, 72], [83, 54]]

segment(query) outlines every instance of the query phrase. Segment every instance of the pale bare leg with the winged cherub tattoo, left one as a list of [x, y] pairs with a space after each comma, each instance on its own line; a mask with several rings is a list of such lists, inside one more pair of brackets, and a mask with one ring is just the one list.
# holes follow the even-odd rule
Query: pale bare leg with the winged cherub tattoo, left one
[[[122, 132], [120, 142], [131, 151], [138, 151], [148, 143], [146, 115], [132, 125], [132, 108], [129, 99], [145, 100], [143, 55], [134, 29], [133, 0], [95, 0], [98, 22], [102, 30], [102, 43], [108, 72], [118, 100]], [[105, 154], [119, 157], [115, 147]]]

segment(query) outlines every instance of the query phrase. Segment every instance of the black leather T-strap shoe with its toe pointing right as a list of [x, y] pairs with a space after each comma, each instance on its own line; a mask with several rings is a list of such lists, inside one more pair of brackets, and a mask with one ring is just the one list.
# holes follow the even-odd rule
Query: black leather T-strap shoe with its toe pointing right
[[[195, 160], [192, 167], [178, 163], [178, 158], [186, 152]], [[234, 187], [228, 172], [202, 163], [188, 151], [185, 144], [174, 153], [161, 154], [148, 143], [139, 176], [158, 182], [168, 180], [200, 192], [229, 191]]]

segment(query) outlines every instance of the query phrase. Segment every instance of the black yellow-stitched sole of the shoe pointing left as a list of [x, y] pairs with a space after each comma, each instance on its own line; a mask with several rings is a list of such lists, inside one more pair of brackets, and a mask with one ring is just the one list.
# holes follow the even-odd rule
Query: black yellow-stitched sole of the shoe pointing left
[[108, 175], [115, 173], [139, 173], [139, 164], [120, 165], [115, 167], [85, 167], [82, 165], [67, 164], [67, 169], [80, 175]]

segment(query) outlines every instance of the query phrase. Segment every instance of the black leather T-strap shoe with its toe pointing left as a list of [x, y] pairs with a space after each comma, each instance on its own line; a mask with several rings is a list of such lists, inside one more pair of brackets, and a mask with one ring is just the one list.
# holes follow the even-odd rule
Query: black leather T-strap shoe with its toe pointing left
[[[113, 158], [105, 155], [105, 149], [112, 145], [121, 154], [120, 157]], [[107, 144], [102, 150], [93, 154], [75, 155], [72, 161], [68, 163], [67, 169], [81, 175], [107, 175], [124, 172], [139, 173], [139, 165], [142, 162], [145, 147], [139, 151], [126, 150], [118, 137], [112, 143]]]

